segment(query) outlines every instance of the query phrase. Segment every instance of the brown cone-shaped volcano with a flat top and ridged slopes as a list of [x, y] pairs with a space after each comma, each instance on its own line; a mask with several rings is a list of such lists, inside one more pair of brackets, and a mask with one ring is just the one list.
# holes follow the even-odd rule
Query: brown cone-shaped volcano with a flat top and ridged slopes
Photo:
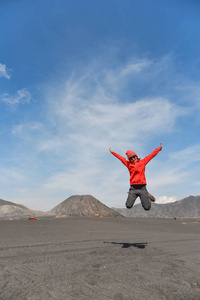
[[71, 196], [51, 209], [49, 213], [56, 216], [122, 217], [91, 195]]

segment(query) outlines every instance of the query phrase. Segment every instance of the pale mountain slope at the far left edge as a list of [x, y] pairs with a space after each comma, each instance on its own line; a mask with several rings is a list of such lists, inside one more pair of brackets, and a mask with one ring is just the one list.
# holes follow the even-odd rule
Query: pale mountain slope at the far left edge
[[0, 220], [18, 220], [29, 217], [44, 216], [46, 213], [31, 210], [23, 204], [0, 199]]

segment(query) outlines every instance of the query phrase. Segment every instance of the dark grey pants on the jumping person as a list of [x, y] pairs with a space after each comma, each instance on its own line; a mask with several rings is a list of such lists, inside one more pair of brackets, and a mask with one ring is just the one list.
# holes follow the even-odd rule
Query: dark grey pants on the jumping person
[[128, 198], [126, 200], [126, 207], [131, 208], [137, 197], [140, 197], [141, 204], [145, 210], [149, 210], [151, 208], [151, 200], [148, 197], [146, 185], [138, 184], [130, 186]]

